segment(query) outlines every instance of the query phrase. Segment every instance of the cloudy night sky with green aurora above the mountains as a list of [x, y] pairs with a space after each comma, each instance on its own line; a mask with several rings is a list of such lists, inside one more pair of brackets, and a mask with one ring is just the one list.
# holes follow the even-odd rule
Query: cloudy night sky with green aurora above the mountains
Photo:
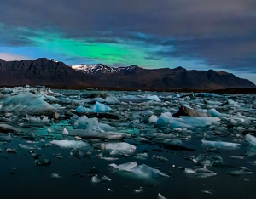
[[255, 0], [1, 0], [0, 58], [228, 71], [256, 82]]

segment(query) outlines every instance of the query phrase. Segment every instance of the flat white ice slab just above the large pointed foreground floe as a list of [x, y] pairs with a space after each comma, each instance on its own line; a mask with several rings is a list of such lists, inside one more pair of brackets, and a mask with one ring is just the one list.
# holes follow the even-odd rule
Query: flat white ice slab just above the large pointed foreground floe
[[109, 151], [125, 151], [126, 153], [132, 153], [136, 150], [136, 146], [130, 145], [125, 142], [116, 143], [96, 143], [93, 144], [96, 149], [99, 150], [109, 150]]

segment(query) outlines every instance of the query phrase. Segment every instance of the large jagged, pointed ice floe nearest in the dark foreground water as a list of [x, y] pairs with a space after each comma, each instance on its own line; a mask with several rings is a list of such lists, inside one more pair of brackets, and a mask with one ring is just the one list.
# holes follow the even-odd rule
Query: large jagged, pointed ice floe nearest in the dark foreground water
[[109, 166], [119, 170], [125, 171], [137, 178], [152, 179], [154, 177], [170, 177], [165, 173], [161, 173], [160, 170], [148, 167], [145, 164], [137, 165], [137, 162], [127, 162], [125, 164], [109, 164]]

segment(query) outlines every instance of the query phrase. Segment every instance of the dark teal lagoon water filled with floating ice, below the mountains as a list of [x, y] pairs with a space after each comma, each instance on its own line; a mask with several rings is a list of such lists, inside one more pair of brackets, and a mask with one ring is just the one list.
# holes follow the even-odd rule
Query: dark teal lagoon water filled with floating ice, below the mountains
[[255, 198], [256, 95], [0, 93], [1, 198]]

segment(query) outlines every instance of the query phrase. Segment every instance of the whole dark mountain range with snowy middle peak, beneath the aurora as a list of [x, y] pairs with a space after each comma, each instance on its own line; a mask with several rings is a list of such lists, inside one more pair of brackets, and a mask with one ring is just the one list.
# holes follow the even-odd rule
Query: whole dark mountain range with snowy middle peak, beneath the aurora
[[72, 65], [39, 58], [0, 59], [0, 86], [45, 85], [53, 88], [106, 88], [171, 91], [256, 88], [253, 82], [224, 71], [143, 69], [137, 65], [114, 68], [107, 65]]

